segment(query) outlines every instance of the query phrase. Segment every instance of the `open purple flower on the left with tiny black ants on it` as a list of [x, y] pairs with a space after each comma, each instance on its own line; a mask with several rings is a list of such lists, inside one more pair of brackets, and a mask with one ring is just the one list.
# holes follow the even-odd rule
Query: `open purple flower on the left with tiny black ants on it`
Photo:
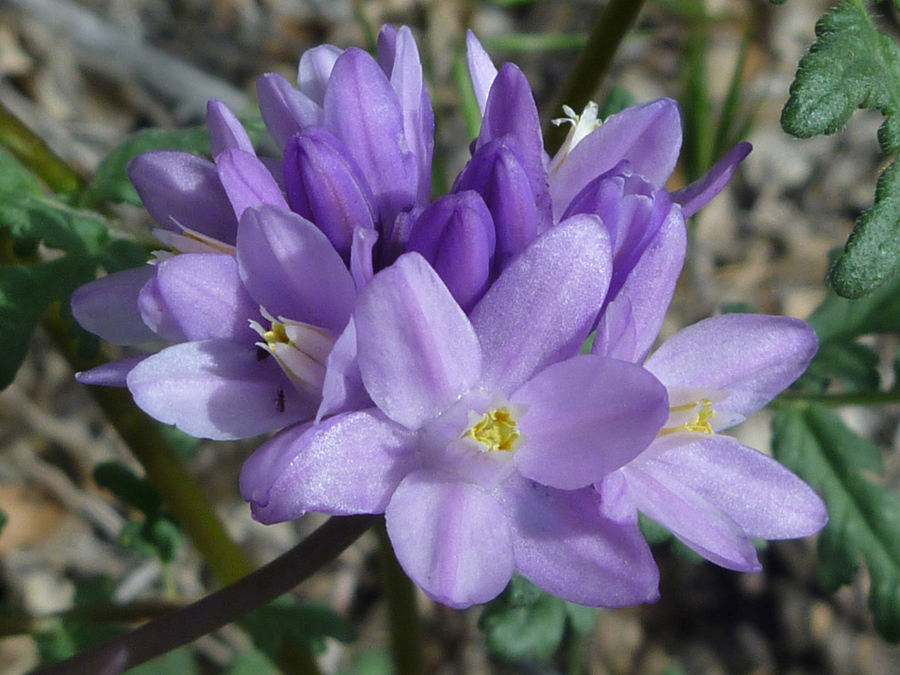
[[183, 254], [141, 292], [181, 344], [127, 376], [156, 419], [204, 438], [255, 436], [310, 419], [356, 288], [325, 235], [273, 205], [245, 209], [236, 254]]

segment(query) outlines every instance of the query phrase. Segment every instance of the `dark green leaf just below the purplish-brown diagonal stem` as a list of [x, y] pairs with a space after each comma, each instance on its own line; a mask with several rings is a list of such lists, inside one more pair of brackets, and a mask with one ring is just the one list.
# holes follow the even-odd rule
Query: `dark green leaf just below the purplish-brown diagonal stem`
[[344, 643], [356, 640], [356, 631], [346, 619], [315, 603], [276, 600], [248, 615], [244, 625], [256, 646], [273, 660], [285, 641], [322, 653], [326, 638]]

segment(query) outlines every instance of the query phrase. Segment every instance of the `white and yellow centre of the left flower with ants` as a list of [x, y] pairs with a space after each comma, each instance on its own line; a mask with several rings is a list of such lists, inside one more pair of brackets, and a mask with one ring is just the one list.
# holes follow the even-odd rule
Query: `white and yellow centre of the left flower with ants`
[[275, 357], [292, 382], [308, 391], [322, 393], [334, 338], [316, 326], [283, 316], [276, 320], [265, 309], [260, 310], [271, 328], [265, 330], [256, 321], [250, 321], [250, 327], [265, 340], [257, 342], [257, 346]]

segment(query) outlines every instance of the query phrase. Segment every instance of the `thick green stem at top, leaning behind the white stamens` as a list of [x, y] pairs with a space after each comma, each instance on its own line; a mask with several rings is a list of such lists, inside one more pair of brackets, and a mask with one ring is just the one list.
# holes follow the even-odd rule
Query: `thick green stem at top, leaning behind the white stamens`
[[[553, 107], [554, 112], [563, 105], [580, 112], [591, 100], [598, 85], [603, 82], [612, 66], [613, 58], [625, 35], [637, 21], [645, 0], [609, 0], [600, 13], [588, 37], [587, 44], [578, 55], [575, 67], [560, 90]], [[554, 117], [558, 115], [553, 115]], [[551, 155], [566, 138], [568, 129], [547, 123], [544, 127], [544, 145]]]

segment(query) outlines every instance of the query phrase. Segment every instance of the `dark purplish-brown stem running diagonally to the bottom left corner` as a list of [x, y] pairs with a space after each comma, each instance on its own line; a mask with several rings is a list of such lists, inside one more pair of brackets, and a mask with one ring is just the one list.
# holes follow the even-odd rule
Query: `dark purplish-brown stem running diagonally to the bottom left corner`
[[265, 567], [202, 600], [35, 675], [116, 675], [263, 607], [334, 560], [375, 522], [374, 516], [332, 518]]

